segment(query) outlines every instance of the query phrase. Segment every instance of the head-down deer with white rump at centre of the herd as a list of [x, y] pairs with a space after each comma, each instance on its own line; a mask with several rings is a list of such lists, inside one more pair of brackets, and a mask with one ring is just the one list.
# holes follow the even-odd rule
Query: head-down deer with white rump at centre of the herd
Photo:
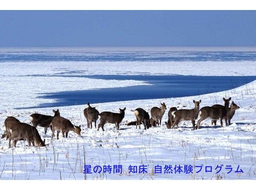
[[136, 128], [137, 125], [139, 125], [139, 128], [141, 129], [141, 123], [143, 123], [145, 129], [151, 127], [149, 112], [145, 111], [143, 108], [137, 108], [134, 110], [134, 114], [137, 120]]

